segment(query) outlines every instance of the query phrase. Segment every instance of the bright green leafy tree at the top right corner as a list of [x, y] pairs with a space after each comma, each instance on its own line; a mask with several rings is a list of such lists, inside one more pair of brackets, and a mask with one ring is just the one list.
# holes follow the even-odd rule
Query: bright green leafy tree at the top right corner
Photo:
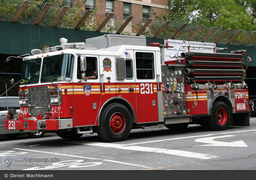
[[255, 30], [256, 0], [191, 0], [187, 5], [191, 24]]

